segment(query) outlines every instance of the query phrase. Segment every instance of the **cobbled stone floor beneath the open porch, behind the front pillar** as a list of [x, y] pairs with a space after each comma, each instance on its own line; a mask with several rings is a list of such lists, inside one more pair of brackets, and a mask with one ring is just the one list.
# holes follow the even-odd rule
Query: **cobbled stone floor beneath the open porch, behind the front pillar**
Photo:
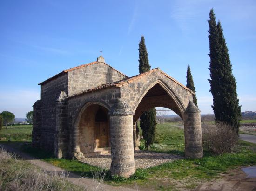
[[[182, 158], [183, 157], [174, 155], [174, 154], [155, 153], [152, 151], [135, 151], [134, 152], [136, 168], [149, 168], [152, 166], [160, 165], [165, 162], [171, 162], [176, 159], [182, 159]], [[93, 166], [99, 166], [102, 168], [110, 169], [111, 155], [110, 153], [108, 153], [104, 155], [87, 157], [81, 161]]]

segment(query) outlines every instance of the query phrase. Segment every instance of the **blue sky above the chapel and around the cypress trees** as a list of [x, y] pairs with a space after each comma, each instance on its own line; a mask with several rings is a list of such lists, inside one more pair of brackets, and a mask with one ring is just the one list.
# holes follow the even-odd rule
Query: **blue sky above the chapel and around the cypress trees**
[[37, 84], [64, 69], [105, 61], [138, 74], [145, 36], [151, 68], [186, 85], [191, 67], [199, 108], [213, 113], [209, 92], [209, 11], [220, 20], [242, 111], [256, 111], [255, 0], [0, 1], [0, 112], [25, 117], [40, 99]]

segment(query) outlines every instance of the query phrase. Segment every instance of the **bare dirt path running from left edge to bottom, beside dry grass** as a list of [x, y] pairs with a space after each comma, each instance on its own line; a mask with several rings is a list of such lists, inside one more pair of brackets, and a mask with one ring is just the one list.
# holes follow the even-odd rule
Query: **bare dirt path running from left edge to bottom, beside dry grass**
[[44, 162], [39, 159], [34, 159], [30, 155], [23, 153], [15, 148], [13, 148], [10, 145], [3, 145], [0, 144], [0, 147], [4, 148], [8, 152], [15, 153], [19, 155], [22, 159], [27, 160], [28, 162], [39, 166], [40, 168], [46, 170], [47, 172], [54, 172], [54, 173], [64, 173], [67, 180], [75, 185], [80, 185], [85, 188], [85, 190], [88, 191], [135, 191], [130, 188], [125, 188], [125, 187], [115, 187], [115, 186], [110, 186], [106, 185], [102, 182], [99, 182], [97, 180], [91, 179], [91, 178], [81, 178], [77, 174], [67, 172], [57, 166], [54, 166], [50, 163]]

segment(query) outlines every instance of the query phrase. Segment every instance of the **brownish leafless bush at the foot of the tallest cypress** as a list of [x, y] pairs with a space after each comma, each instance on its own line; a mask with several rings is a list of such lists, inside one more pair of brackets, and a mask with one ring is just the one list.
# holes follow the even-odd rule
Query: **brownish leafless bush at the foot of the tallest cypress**
[[231, 153], [232, 147], [236, 145], [237, 140], [236, 130], [226, 123], [202, 124], [203, 147], [213, 154]]

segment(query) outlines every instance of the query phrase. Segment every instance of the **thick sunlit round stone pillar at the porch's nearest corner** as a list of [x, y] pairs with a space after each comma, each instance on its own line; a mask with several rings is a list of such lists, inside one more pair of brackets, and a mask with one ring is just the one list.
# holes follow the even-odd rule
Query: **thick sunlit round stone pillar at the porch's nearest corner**
[[116, 100], [110, 113], [111, 175], [128, 178], [135, 172], [133, 147], [133, 111]]

